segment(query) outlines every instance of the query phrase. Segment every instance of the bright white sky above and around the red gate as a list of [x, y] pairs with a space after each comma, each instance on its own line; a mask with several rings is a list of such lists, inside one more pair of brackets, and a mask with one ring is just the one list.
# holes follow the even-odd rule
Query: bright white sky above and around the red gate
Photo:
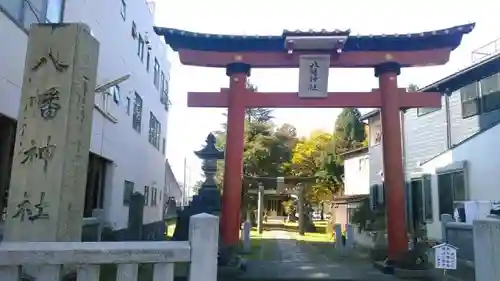
[[[307, 4], [306, 4], [307, 3]], [[500, 37], [500, 17], [491, 0], [157, 0], [156, 25], [201, 33], [280, 35], [284, 29], [351, 29], [351, 34], [404, 34], [432, 31], [476, 22], [450, 62], [444, 66], [406, 68], [401, 87], [419, 87], [444, 78], [472, 63], [471, 53]], [[219, 91], [227, 87], [224, 69], [183, 66], [169, 50], [171, 62], [167, 157], [178, 181], [201, 179], [201, 163], [193, 151], [211, 131], [220, 129], [224, 109], [187, 108], [188, 91]], [[262, 91], [297, 91], [298, 70], [252, 70], [250, 81]], [[373, 69], [331, 69], [329, 91], [369, 91], [377, 88]], [[275, 123], [290, 123], [299, 135], [314, 130], [333, 131], [341, 109], [276, 109]], [[362, 110], [366, 112], [366, 110]]]

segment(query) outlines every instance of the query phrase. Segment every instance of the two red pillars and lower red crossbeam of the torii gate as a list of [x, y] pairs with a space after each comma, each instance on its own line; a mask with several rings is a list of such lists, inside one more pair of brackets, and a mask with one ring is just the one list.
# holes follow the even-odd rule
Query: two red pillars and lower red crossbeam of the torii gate
[[227, 107], [227, 140], [222, 196], [221, 232], [224, 242], [239, 241], [240, 207], [243, 171], [245, 108], [380, 108], [384, 137], [382, 138], [384, 176], [387, 192], [388, 244], [391, 260], [408, 249], [405, 223], [404, 173], [400, 110], [411, 107], [439, 107], [440, 93], [407, 92], [398, 88], [400, 65], [386, 62], [375, 67], [379, 88], [371, 92], [333, 92], [325, 98], [303, 99], [297, 93], [252, 92], [246, 88], [250, 65], [229, 64], [229, 89], [218, 93], [190, 92], [189, 107]]

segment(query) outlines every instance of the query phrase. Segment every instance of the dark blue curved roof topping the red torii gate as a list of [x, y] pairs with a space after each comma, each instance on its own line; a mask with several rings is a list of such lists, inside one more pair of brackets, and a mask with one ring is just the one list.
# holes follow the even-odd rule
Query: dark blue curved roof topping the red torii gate
[[475, 24], [446, 29], [392, 35], [351, 35], [350, 31], [283, 31], [281, 35], [247, 36], [196, 33], [181, 29], [155, 27], [165, 43], [179, 49], [216, 52], [281, 52], [285, 50], [287, 36], [348, 36], [344, 52], [356, 51], [419, 51], [440, 48], [455, 49], [463, 35], [471, 32]]

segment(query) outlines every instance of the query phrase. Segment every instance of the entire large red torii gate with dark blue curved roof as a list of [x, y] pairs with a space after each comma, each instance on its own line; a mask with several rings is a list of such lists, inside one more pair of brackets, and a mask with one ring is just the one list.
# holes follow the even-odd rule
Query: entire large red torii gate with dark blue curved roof
[[[230, 77], [229, 88], [220, 92], [188, 93], [189, 107], [228, 108], [221, 218], [223, 241], [228, 245], [239, 241], [245, 108], [381, 108], [389, 260], [397, 260], [408, 249], [400, 110], [439, 107], [441, 100], [440, 93], [409, 93], [398, 88], [397, 76], [402, 67], [445, 64], [463, 35], [473, 28], [474, 24], [468, 24], [418, 34], [380, 36], [351, 36], [350, 31], [338, 30], [233, 36], [155, 27], [156, 33], [163, 35], [165, 42], [178, 51], [183, 64], [224, 67]], [[379, 88], [301, 98], [298, 93], [252, 92], [246, 87], [252, 67], [297, 68], [304, 55], [325, 54], [329, 56], [329, 67], [374, 68]]]

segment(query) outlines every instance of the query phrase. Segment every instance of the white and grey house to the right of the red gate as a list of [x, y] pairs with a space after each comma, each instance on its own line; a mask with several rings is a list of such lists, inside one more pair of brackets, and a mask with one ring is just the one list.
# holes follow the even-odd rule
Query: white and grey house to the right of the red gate
[[[406, 196], [412, 202], [407, 213], [430, 239], [442, 238], [440, 217], [453, 215], [456, 202], [500, 201], [498, 42], [477, 53], [495, 52], [419, 90], [443, 93], [441, 107], [412, 108], [402, 116]], [[370, 182], [377, 184], [383, 157], [379, 111], [363, 119], [370, 126]]]

